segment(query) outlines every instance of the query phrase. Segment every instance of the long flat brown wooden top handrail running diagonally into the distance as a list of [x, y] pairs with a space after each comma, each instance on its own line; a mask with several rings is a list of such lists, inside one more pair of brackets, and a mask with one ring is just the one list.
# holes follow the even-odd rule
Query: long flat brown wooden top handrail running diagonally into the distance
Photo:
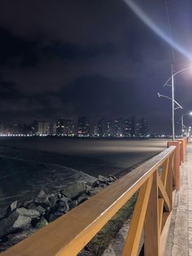
[[129, 200], [155, 170], [162, 166], [175, 151], [175, 146], [165, 149], [157, 156], [104, 188], [88, 201], [41, 228], [26, 240], [3, 252], [2, 256], [53, 256], [76, 255]]

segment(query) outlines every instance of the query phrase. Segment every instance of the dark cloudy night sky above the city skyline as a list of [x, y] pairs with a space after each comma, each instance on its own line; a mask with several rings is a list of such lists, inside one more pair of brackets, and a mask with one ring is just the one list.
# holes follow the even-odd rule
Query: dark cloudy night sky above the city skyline
[[[190, 0], [134, 2], [169, 36], [167, 2], [172, 40], [192, 54]], [[175, 71], [190, 66], [174, 55]], [[171, 46], [123, 0], [0, 0], [0, 121], [135, 115], [171, 132], [171, 102], [157, 96], [171, 95], [171, 64]], [[176, 99], [192, 110], [189, 71]]]

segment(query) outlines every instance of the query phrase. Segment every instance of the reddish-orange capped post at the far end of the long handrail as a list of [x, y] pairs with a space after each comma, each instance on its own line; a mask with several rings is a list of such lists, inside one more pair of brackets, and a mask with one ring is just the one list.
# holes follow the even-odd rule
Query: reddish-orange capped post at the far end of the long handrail
[[[178, 141], [168, 141], [168, 147], [176, 146], [174, 155], [174, 178], [176, 189], [180, 189], [180, 143]], [[170, 171], [170, 170], [169, 170]]]

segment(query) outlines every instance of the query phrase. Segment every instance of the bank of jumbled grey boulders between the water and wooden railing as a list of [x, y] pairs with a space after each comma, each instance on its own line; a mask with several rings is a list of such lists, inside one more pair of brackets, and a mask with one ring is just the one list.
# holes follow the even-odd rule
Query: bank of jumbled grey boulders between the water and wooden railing
[[30, 201], [12, 202], [6, 214], [0, 216], [0, 251], [22, 241], [115, 181], [113, 175], [98, 175], [98, 179], [68, 183], [52, 194], [41, 189]]

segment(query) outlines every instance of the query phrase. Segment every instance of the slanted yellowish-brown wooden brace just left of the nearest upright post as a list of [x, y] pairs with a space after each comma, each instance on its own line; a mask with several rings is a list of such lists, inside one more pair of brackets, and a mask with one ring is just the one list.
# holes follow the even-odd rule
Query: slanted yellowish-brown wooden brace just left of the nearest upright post
[[146, 208], [151, 192], [152, 181], [153, 177], [151, 175], [151, 177], [142, 185], [142, 188], [140, 189], [133, 218], [130, 223], [128, 236], [124, 242], [123, 256], [137, 255], [137, 250], [142, 235], [142, 227], [146, 216]]

